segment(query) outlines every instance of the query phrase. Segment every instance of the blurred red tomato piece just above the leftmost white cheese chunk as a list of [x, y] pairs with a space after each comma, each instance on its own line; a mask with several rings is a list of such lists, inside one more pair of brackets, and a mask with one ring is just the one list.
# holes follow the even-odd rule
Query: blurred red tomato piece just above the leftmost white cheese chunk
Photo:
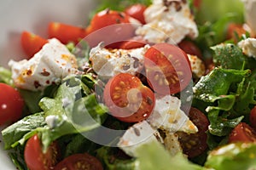
[[48, 26], [49, 38], [55, 37], [62, 43], [78, 43], [86, 35], [86, 29], [79, 26], [70, 26], [59, 22], [50, 22]]

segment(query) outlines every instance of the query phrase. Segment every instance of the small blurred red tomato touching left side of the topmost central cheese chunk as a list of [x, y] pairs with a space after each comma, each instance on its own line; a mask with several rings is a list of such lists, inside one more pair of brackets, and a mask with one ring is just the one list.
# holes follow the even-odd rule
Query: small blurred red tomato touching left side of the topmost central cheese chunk
[[147, 6], [137, 3], [131, 5], [130, 7], [125, 9], [125, 14], [130, 15], [132, 18], [139, 20], [143, 25], [146, 24], [144, 18], [144, 11], [146, 10]]

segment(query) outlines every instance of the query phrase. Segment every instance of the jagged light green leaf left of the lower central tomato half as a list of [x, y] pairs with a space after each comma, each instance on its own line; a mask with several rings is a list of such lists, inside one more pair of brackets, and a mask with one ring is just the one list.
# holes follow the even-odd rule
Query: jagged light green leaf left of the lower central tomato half
[[84, 86], [81, 78], [71, 77], [61, 84], [54, 99], [40, 101], [46, 119], [53, 117], [51, 125], [38, 129], [44, 149], [63, 135], [87, 132], [104, 122], [107, 108], [95, 94], [85, 95]]

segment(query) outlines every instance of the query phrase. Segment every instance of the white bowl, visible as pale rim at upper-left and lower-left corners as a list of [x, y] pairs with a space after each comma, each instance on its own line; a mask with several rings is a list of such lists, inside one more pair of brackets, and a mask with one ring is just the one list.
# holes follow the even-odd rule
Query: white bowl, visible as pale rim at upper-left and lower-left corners
[[[96, 0], [22, 0], [0, 2], [0, 65], [7, 67], [9, 59], [22, 59], [20, 33], [31, 31], [47, 38], [49, 21], [58, 21], [74, 26], [86, 26], [90, 11]], [[0, 130], [3, 127], [0, 127]], [[0, 134], [0, 167], [15, 170], [16, 167], [3, 150]]]

